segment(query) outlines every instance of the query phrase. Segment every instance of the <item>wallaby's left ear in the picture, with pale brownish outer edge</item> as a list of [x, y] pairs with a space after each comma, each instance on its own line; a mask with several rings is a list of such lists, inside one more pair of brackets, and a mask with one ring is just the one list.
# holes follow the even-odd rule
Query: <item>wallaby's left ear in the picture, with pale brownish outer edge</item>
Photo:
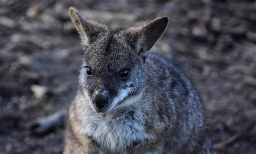
[[69, 14], [80, 34], [82, 44], [85, 46], [95, 42], [97, 39], [102, 37], [104, 33], [109, 32], [106, 25], [85, 19], [79, 14], [78, 10], [74, 8], [69, 9]]

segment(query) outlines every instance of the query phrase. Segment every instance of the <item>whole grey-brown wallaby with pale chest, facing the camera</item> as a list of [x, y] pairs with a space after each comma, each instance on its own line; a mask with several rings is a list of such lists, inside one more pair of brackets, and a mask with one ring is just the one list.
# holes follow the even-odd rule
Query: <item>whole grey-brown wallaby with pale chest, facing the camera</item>
[[112, 32], [69, 12], [83, 61], [64, 153], [211, 153], [196, 90], [170, 59], [148, 52], [169, 18]]

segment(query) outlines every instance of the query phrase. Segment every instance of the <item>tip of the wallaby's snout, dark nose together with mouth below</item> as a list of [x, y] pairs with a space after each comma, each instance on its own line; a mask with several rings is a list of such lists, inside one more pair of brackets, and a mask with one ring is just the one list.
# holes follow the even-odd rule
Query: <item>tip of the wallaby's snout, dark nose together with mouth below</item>
[[92, 104], [97, 113], [104, 112], [109, 104], [109, 93], [106, 90], [97, 90], [92, 95]]

